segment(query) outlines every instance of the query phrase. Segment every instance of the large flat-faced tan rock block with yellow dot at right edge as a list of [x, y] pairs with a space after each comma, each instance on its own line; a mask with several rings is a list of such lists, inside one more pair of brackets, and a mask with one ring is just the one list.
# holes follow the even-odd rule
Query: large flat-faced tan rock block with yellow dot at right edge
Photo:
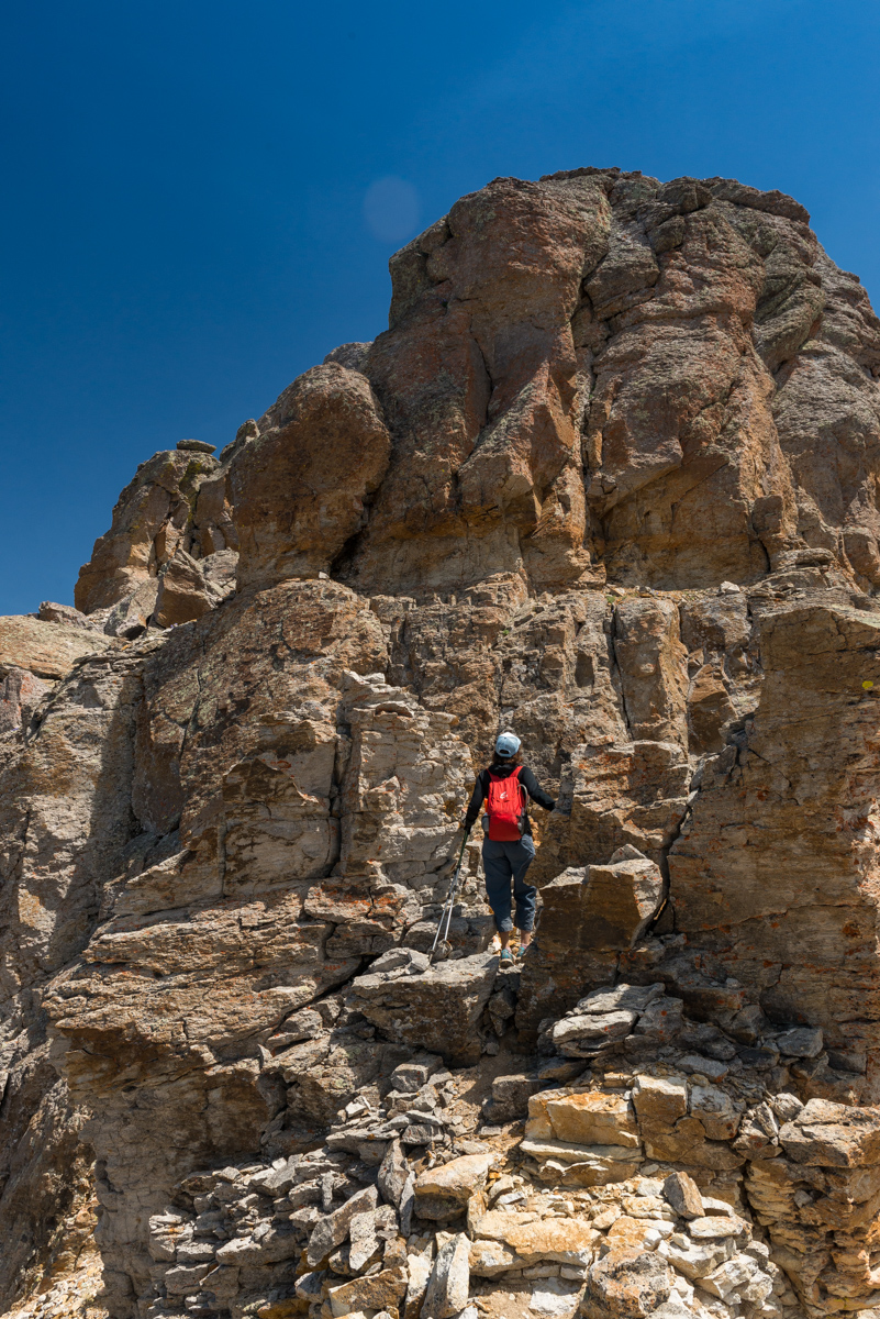
[[[862, 683], [880, 682], [868, 658], [879, 637], [873, 615], [862, 611], [800, 604], [764, 617], [765, 678], [746, 745], [710, 762], [686, 839], [669, 856], [680, 930], [711, 938], [765, 1010], [822, 1028], [826, 1047], [851, 1041], [843, 1018], [864, 1021], [858, 1033], [868, 1053], [873, 861], [859, 827], [843, 822], [867, 819], [859, 813], [873, 791], [873, 698]], [[747, 803], [760, 803], [760, 847]], [[734, 927], [731, 940], [722, 931]], [[808, 946], [809, 958], [794, 955]]]

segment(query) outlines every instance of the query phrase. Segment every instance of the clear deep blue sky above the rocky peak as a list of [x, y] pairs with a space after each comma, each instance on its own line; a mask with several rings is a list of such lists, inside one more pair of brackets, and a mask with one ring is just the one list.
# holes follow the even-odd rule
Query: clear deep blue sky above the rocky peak
[[385, 328], [390, 253], [497, 175], [779, 187], [880, 302], [877, 0], [5, 15], [0, 613], [72, 601], [137, 463]]

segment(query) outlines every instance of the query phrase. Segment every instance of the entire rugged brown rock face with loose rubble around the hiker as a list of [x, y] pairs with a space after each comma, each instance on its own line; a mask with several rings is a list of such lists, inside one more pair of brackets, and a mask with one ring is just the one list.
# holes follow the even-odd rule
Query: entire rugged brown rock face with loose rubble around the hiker
[[[880, 322], [721, 178], [495, 179], [391, 280], [0, 620], [0, 1301], [871, 1311]], [[505, 725], [537, 940], [472, 840], [431, 964]]]

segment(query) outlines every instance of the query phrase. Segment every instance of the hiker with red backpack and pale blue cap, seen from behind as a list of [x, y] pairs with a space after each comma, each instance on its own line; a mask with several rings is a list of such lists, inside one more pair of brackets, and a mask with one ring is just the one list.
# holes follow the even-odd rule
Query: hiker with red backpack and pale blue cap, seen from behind
[[515, 733], [505, 732], [495, 743], [495, 758], [489, 769], [477, 774], [470, 806], [465, 815], [465, 834], [473, 828], [480, 807], [486, 803], [482, 845], [482, 864], [486, 872], [486, 896], [495, 917], [501, 938], [502, 966], [511, 963], [510, 881], [514, 881], [516, 901], [516, 929], [520, 952], [531, 943], [535, 927], [535, 898], [537, 889], [526, 884], [526, 871], [535, 860], [532, 827], [528, 822], [528, 798], [552, 811], [556, 802], [539, 787], [537, 780], [519, 757], [520, 741]]

